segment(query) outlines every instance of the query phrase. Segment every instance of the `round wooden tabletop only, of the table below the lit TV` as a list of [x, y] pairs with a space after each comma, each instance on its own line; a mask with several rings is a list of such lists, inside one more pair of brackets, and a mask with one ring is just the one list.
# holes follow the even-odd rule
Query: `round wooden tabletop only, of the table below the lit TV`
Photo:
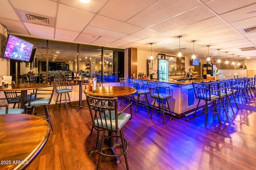
[[32, 89], [43, 88], [48, 86], [50, 86], [50, 84], [47, 84], [47, 83], [10, 84], [8, 87], [0, 88], [0, 91], [32, 90]]

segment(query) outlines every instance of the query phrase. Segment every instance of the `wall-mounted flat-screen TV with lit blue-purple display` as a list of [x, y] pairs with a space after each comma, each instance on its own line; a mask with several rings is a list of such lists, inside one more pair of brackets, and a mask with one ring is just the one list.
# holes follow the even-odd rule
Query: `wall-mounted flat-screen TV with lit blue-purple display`
[[33, 44], [9, 34], [4, 48], [4, 58], [20, 61], [30, 61]]

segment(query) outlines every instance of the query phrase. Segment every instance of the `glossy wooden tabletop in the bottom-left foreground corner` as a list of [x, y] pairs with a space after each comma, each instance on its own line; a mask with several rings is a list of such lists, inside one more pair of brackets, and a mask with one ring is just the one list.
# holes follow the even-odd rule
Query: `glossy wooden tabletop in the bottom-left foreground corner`
[[0, 170], [26, 168], [42, 150], [49, 135], [50, 126], [42, 117], [0, 115]]

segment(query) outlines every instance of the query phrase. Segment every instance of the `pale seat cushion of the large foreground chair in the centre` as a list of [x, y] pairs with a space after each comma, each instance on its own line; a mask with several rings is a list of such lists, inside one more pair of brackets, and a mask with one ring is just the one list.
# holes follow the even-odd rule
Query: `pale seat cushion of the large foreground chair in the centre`
[[[102, 117], [102, 122], [100, 121], [100, 117], [98, 117], [98, 122], [96, 119], [95, 125], [98, 125], [98, 123], [99, 123], [99, 126], [106, 127], [106, 123], [107, 123], [108, 128], [111, 128], [110, 115], [108, 113], [106, 113], [106, 123], [104, 121], [104, 119], [105, 119], [104, 113], [101, 113], [101, 117]], [[123, 113], [119, 114], [118, 115], [118, 130], [121, 129], [126, 124], [126, 122], [129, 121], [130, 118], [131, 118], [131, 115], [128, 113], [123, 112]], [[112, 119], [112, 129], [116, 130], [116, 120], [115, 120], [115, 112], [114, 111], [111, 111], [111, 119]]]

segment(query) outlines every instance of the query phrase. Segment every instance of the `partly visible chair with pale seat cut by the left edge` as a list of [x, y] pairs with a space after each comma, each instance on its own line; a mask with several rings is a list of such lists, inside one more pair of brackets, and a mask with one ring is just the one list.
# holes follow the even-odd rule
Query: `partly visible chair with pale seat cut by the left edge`
[[[0, 101], [4, 101], [4, 100], [18, 100], [18, 108], [12, 108], [9, 109], [8, 106], [9, 104], [1, 104], [0, 107], [4, 107], [4, 109], [0, 109], [0, 114], [21, 114], [24, 112], [24, 109], [20, 109], [20, 97], [13, 97], [13, 98], [0, 98]], [[2, 102], [1, 102], [2, 103]]]

